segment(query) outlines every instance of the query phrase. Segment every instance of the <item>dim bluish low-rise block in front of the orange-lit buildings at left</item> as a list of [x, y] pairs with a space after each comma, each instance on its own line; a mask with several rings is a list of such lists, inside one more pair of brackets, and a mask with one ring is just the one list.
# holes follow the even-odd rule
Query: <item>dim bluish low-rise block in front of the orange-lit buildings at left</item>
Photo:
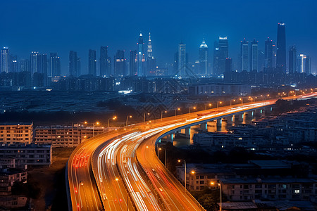
[[0, 159], [15, 159], [15, 167], [51, 165], [51, 144], [2, 144]]

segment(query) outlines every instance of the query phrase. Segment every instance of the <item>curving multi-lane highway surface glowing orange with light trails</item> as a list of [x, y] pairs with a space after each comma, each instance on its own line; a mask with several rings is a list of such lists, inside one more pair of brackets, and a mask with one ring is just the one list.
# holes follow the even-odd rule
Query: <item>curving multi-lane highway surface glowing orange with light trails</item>
[[166, 117], [85, 141], [68, 160], [69, 210], [204, 210], [157, 158], [157, 141], [169, 132], [270, 106], [275, 101], [214, 108], [208, 114], [203, 110]]

